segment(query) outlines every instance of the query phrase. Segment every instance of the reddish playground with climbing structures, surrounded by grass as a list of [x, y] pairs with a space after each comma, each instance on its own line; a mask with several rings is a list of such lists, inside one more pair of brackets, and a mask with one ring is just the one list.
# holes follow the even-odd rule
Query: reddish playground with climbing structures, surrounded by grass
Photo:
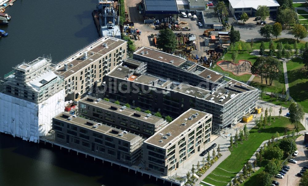
[[251, 62], [247, 60], [239, 60], [238, 63], [221, 60], [217, 62], [217, 65], [221, 67], [222, 70], [232, 72], [232, 74], [237, 76], [251, 74], [250, 67], [252, 65]]

